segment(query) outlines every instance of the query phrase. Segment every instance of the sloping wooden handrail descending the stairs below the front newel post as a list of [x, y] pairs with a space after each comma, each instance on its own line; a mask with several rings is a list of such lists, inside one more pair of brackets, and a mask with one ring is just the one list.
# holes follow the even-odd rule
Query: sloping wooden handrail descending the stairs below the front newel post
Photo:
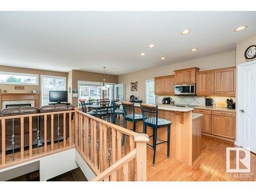
[[95, 177], [92, 181], [102, 181], [106, 177], [113, 174], [117, 169], [124, 166], [126, 163], [131, 161], [133, 158], [136, 157], [137, 151], [136, 149], [131, 151], [129, 154], [125, 155], [123, 158], [121, 158], [119, 161], [111, 165], [109, 168], [105, 169], [101, 174], [99, 174], [97, 177]]

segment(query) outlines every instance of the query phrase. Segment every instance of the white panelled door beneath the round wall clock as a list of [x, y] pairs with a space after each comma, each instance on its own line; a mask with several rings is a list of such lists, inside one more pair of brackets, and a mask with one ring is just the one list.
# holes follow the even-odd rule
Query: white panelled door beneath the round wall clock
[[256, 61], [238, 66], [238, 144], [256, 153]]

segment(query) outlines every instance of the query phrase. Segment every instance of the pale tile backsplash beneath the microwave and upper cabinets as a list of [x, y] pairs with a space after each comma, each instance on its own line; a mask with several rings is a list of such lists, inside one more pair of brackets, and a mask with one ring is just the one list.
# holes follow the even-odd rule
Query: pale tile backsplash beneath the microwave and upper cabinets
[[[158, 104], [162, 103], [163, 97], [173, 98], [175, 104], [191, 104], [191, 105], [200, 105], [205, 106], [204, 96], [158, 96]], [[233, 101], [236, 101], [236, 97], [220, 97], [212, 96], [214, 99], [214, 105], [217, 101], [226, 101], [226, 99], [232, 98]]]

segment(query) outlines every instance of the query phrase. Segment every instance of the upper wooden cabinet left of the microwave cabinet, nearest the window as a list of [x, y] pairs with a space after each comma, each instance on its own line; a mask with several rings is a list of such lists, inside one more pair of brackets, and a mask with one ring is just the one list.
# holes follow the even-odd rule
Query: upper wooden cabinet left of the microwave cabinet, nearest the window
[[155, 77], [155, 95], [174, 95], [174, 75]]

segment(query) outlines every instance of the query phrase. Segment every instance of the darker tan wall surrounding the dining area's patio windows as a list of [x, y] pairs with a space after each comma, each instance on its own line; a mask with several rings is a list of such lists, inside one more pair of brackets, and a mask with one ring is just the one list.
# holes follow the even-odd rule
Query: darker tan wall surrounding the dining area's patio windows
[[[72, 70], [72, 89], [78, 88], [78, 81], [94, 81], [94, 82], [102, 82], [103, 81], [102, 73], [91, 73], [87, 71], [78, 71]], [[106, 82], [108, 83], [118, 83], [117, 75], [105, 75]], [[68, 88], [69, 89], [69, 88]], [[72, 98], [72, 104], [77, 106], [78, 98]]]

